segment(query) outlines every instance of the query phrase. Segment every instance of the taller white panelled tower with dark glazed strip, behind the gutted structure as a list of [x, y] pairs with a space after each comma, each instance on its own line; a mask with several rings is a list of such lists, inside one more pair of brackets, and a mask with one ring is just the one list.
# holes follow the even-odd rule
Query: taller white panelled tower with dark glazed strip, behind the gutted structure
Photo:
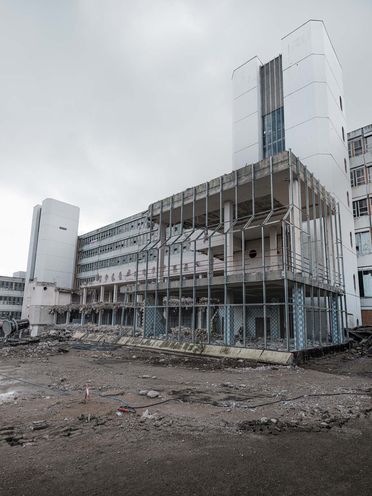
[[233, 168], [292, 148], [340, 203], [349, 325], [361, 322], [342, 69], [322, 21], [233, 73]]

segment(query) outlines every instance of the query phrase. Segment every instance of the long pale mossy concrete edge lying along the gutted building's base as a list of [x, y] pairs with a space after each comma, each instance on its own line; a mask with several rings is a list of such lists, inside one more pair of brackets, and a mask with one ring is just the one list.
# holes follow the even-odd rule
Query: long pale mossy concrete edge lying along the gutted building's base
[[[75, 332], [73, 338], [103, 344], [111, 343], [118, 336], [98, 333]], [[123, 336], [115, 342], [118, 346], [140, 348], [144, 350], [161, 351], [163, 353], [179, 353], [211, 358], [235, 358], [237, 360], [255, 360], [273, 365], [291, 365], [294, 354], [286, 351], [257, 350], [256, 348], [236, 348], [233, 346], [204, 345], [199, 351], [192, 343], [164, 341], [161, 339], [133, 338]]]

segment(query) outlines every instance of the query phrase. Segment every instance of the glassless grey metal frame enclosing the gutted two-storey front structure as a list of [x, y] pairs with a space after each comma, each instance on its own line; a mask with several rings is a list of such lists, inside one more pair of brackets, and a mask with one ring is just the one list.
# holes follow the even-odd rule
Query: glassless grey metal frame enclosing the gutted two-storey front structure
[[[279, 173], [288, 176], [287, 204], [280, 204], [275, 196]], [[262, 189], [263, 180], [267, 180], [267, 194], [257, 196], [256, 187]], [[126, 281], [120, 288], [122, 293], [129, 291], [133, 295], [133, 336], [137, 327], [143, 327], [143, 337], [159, 339], [160, 334], [161, 339], [168, 340], [172, 334], [170, 311], [176, 308], [178, 332], [176, 336], [172, 334], [172, 339], [183, 341], [183, 317], [191, 309], [191, 316], [187, 318], [191, 319], [188, 327], [192, 342], [198, 339], [197, 329], [205, 329], [207, 344], [215, 342], [213, 322], [219, 319], [222, 322], [219, 344], [234, 346], [236, 325], [232, 330], [229, 320], [242, 309], [242, 329], [238, 334], [242, 335], [242, 346], [249, 347], [252, 338], [248, 334], [249, 311], [259, 308], [263, 318], [263, 349], [272, 349], [273, 333], [272, 328], [268, 329], [268, 315], [273, 311], [277, 312], [280, 327], [278, 339], [283, 340], [288, 351], [349, 341], [339, 203], [291, 150], [191, 189], [191, 195], [186, 190], [149, 206], [150, 238], [138, 251], [146, 252], [144, 274], [139, 274], [137, 255], [136, 270], [132, 274], [134, 281]], [[262, 207], [262, 197], [268, 208]], [[246, 211], [240, 214], [242, 205]], [[199, 221], [201, 211], [205, 216], [203, 222]], [[174, 226], [178, 223], [181, 227], [176, 234]], [[153, 240], [155, 225], [158, 235]], [[276, 244], [278, 238], [281, 244], [275, 250], [271, 248], [271, 238], [270, 248], [266, 248], [270, 229], [279, 230]], [[234, 246], [238, 240], [241, 253]], [[255, 250], [256, 260], [261, 259], [261, 265], [253, 272], [247, 265], [246, 243], [250, 241], [258, 241], [261, 248]], [[184, 263], [185, 244], [188, 255], [193, 251], [192, 271], [189, 262]], [[172, 264], [171, 247], [176, 246], [181, 246], [179, 263]], [[220, 253], [214, 256], [215, 247], [223, 247], [223, 256]], [[156, 270], [149, 274], [148, 252], [154, 249]], [[203, 264], [198, 260], [200, 254]], [[276, 261], [273, 265], [272, 259]], [[257, 294], [260, 288], [259, 300], [255, 295], [256, 300], [251, 301], [251, 288], [258, 288]], [[275, 301], [272, 295], [276, 295]], [[199, 326], [204, 320], [200, 316], [203, 311], [205, 326]], [[138, 326], [141, 312], [142, 325]], [[160, 327], [164, 332], [158, 332]], [[278, 329], [276, 333], [278, 335]], [[215, 334], [213, 331], [213, 336]]]

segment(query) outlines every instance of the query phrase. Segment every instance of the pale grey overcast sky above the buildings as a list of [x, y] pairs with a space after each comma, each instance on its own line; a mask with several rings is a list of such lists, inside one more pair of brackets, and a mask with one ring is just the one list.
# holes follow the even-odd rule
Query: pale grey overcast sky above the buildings
[[372, 122], [370, 0], [0, 0], [0, 274], [26, 270], [32, 208], [88, 232], [232, 170], [231, 76], [322, 19], [348, 130]]

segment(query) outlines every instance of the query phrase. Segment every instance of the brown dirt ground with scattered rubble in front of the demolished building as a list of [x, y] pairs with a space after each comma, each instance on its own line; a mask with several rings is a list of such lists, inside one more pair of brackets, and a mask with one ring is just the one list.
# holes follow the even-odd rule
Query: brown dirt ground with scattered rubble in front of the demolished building
[[[72, 394], [0, 375], [0, 495], [371, 494], [368, 357], [281, 367], [70, 349], [0, 372]], [[86, 384], [136, 412], [83, 403]]]

